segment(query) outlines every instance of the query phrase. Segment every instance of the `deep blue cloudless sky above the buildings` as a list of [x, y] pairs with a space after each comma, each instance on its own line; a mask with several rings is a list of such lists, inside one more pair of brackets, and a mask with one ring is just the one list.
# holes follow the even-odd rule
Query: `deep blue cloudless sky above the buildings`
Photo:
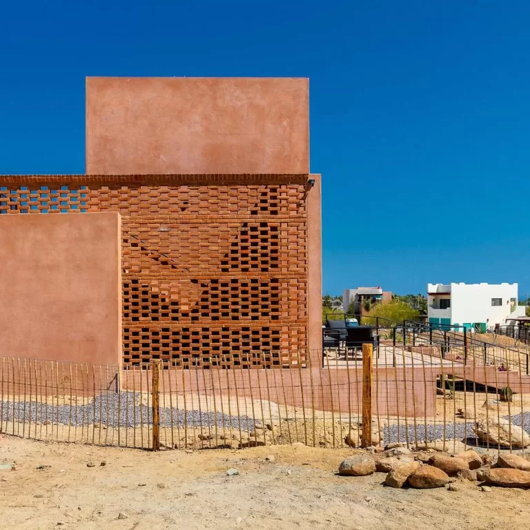
[[530, 292], [530, 3], [26, 1], [0, 21], [0, 173], [84, 173], [88, 75], [310, 78], [324, 291]]

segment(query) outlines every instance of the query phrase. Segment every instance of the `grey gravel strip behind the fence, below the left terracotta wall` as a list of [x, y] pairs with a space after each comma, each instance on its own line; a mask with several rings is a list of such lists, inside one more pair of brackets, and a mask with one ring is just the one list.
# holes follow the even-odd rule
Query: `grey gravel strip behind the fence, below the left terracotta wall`
[[[138, 394], [137, 394], [138, 396]], [[2, 418], [8, 422], [14, 419], [22, 421], [26, 418], [26, 422], [39, 422], [44, 423], [46, 421], [50, 423], [61, 423], [64, 425], [88, 425], [92, 423], [101, 422], [104, 425], [111, 427], [118, 426], [118, 401], [119, 401], [119, 425], [124, 427], [140, 426], [141, 423], [144, 425], [153, 424], [153, 409], [151, 406], [139, 406], [135, 404], [135, 395], [132, 392], [121, 392], [109, 393], [106, 395], [96, 396], [95, 400], [90, 404], [85, 405], [72, 405], [69, 404], [41, 404], [35, 402], [0, 402], [0, 410], [2, 411]], [[9, 406], [8, 406], [9, 405]], [[107, 417], [108, 408], [108, 417]], [[100, 415], [101, 409], [101, 415]], [[228, 414], [222, 414], [220, 412], [213, 413], [203, 411], [186, 411], [183, 409], [160, 409], [160, 424], [161, 426], [171, 426], [171, 417], [173, 415], [173, 426], [175, 428], [184, 426], [189, 427], [200, 427], [204, 426], [217, 426], [222, 427], [233, 427], [233, 429], [239, 429], [242, 431], [253, 431], [254, 421], [252, 418], [248, 418], [246, 415], [234, 416]]]

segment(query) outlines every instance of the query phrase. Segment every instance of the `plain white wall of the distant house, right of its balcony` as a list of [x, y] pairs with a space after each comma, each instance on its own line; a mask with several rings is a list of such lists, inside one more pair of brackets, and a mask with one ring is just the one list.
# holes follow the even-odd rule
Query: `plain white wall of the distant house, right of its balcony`
[[[492, 298], [501, 298], [502, 304], [492, 306]], [[517, 304], [518, 284], [451, 284], [451, 324], [504, 324], [512, 314], [511, 298]]]

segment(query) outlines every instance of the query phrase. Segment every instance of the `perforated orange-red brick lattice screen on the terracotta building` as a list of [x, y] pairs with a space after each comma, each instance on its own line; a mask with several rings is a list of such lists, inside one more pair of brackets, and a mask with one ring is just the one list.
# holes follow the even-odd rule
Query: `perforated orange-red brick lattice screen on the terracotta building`
[[124, 364], [290, 366], [306, 361], [306, 179], [0, 177], [0, 215], [121, 214]]

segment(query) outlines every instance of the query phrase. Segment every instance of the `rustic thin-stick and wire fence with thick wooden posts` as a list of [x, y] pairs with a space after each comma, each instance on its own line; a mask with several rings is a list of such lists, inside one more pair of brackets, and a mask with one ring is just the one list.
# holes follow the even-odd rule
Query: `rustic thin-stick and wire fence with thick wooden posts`
[[[0, 357], [0, 431], [139, 449], [402, 442], [529, 451], [528, 353], [381, 344], [311, 351], [277, 369], [181, 369]], [[256, 366], [274, 352], [251, 353]], [[322, 362], [323, 361], [323, 362]], [[234, 367], [236, 366], [236, 367]], [[248, 366], [248, 363], [247, 363]], [[230, 367], [230, 368], [228, 368]]]

